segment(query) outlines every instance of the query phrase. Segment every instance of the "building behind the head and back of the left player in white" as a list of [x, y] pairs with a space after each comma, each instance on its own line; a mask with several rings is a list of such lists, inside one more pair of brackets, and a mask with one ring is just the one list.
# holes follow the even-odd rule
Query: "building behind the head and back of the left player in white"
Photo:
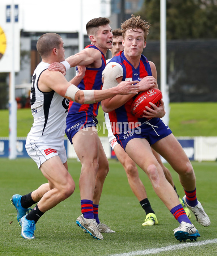
[[[30, 88], [33, 72], [39, 62], [41, 56], [39, 55], [36, 44], [38, 38], [46, 32], [26, 32], [21, 30], [20, 34], [20, 53], [21, 66], [20, 71], [15, 76], [15, 96], [18, 108], [30, 107]], [[65, 57], [74, 55], [78, 52], [78, 32], [73, 33], [58, 33], [64, 41]], [[84, 35], [84, 47], [89, 44], [89, 38]], [[76, 69], [71, 68], [67, 74], [66, 79], [70, 81], [75, 76]]]

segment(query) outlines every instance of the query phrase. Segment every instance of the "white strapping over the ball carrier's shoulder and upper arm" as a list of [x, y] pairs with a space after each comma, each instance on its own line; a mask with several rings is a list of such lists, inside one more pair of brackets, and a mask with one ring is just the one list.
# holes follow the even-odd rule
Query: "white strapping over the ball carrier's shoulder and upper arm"
[[[115, 65], [112, 67], [112, 65]], [[102, 72], [104, 78], [103, 88], [108, 89], [117, 86], [119, 83], [116, 78], [123, 76], [123, 68], [119, 63], [110, 62]]]

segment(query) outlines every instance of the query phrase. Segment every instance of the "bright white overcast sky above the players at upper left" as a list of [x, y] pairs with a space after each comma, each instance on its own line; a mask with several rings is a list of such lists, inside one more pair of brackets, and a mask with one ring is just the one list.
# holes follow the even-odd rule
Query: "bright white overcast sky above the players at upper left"
[[[80, 15], [82, 2], [82, 20]], [[104, 2], [104, 4], [102, 4]], [[21, 29], [42, 32], [83, 33], [86, 23], [92, 18], [108, 17], [108, 0], [1, 0], [2, 5], [18, 4]]]

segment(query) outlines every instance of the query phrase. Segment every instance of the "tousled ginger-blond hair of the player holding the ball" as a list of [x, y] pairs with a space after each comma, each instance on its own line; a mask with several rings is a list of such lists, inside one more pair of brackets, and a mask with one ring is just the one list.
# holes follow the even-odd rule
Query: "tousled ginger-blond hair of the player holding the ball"
[[140, 15], [137, 15], [136, 17], [132, 14], [131, 18], [129, 18], [128, 20], [125, 20], [122, 24], [121, 24], [121, 28], [122, 28], [122, 33], [123, 33], [123, 38], [125, 38], [125, 34], [127, 32], [128, 29], [131, 29], [133, 31], [137, 31], [138, 28], [142, 29], [144, 32], [144, 39], [146, 41], [147, 35], [149, 34], [149, 28], [150, 28], [150, 24], [145, 21], [140, 19]]

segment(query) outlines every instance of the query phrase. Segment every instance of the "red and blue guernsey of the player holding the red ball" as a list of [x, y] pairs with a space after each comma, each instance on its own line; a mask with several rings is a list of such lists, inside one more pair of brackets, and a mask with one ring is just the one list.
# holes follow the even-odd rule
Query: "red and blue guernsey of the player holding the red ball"
[[[128, 62], [127, 58], [124, 56], [123, 51], [120, 51], [117, 55], [115, 55], [110, 60], [110, 62], [116, 62], [122, 66], [123, 68], [122, 81], [128, 81], [128, 80], [140, 81], [144, 77], [152, 75], [150, 64], [144, 55], [141, 55], [140, 64], [137, 68], [134, 68], [131, 65], [131, 63]], [[143, 123], [145, 121], [144, 118], [137, 118], [131, 114], [131, 105], [135, 97], [136, 96], [132, 97], [120, 108], [117, 108], [108, 113], [109, 119], [111, 121], [112, 132], [114, 134], [119, 134], [120, 131], [124, 131], [124, 130], [128, 131], [138, 126], [137, 122]], [[116, 125], [117, 122], [118, 122], [118, 125]], [[120, 123], [123, 123], [122, 127], [120, 127]], [[130, 123], [129, 127], [128, 125], [126, 125], [126, 123]]]

